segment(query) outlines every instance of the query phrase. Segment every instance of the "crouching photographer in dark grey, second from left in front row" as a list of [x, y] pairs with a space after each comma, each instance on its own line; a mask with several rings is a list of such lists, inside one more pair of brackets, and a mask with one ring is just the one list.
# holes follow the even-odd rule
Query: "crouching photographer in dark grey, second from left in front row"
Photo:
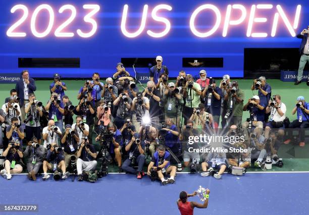
[[32, 137], [24, 151], [24, 156], [27, 157], [28, 179], [36, 180], [35, 175], [43, 165], [44, 155], [44, 146], [38, 143], [36, 137]]

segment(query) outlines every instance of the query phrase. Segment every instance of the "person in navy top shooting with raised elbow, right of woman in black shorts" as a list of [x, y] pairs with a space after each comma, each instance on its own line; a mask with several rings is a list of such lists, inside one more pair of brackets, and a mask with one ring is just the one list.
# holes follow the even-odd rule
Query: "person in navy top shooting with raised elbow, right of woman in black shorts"
[[45, 110], [48, 111], [48, 120], [54, 120], [55, 125], [63, 131], [63, 114], [64, 114], [64, 104], [58, 99], [58, 94], [53, 92], [52, 96], [48, 100]]

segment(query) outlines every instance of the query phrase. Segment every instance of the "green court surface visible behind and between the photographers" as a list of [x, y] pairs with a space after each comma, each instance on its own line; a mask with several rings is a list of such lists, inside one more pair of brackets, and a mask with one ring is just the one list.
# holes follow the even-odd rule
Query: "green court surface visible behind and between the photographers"
[[[217, 79], [219, 80], [219, 79]], [[234, 79], [233, 79], [234, 80]], [[252, 80], [238, 79], [239, 88], [244, 90], [245, 101], [244, 103], [253, 95], [258, 94], [257, 90], [250, 90], [252, 85]], [[77, 104], [77, 93], [80, 87], [85, 81], [83, 80], [64, 80], [68, 90], [65, 92], [69, 96], [70, 100], [74, 105]], [[281, 95], [281, 100], [285, 103], [287, 112], [286, 116], [293, 121], [296, 119], [296, 115], [292, 115], [291, 111], [295, 106], [296, 98], [299, 95], [305, 97], [309, 101], [309, 87], [305, 83], [301, 83], [297, 86], [294, 85], [294, 82], [282, 82], [280, 80], [267, 80], [267, 82], [272, 87], [272, 95], [279, 94]], [[37, 90], [35, 92], [36, 98], [46, 104], [49, 96], [49, 84], [52, 83], [52, 80], [40, 80], [36, 81]], [[15, 84], [1, 84], [0, 85], [0, 100], [5, 101], [6, 97], [10, 96], [10, 90], [15, 88]], [[142, 90], [142, 87], [139, 87]], [[2, 104], [3, 104], [2, 103]], [[248, 117], [248, 113], [243, 113], [243, 121]], [[295, 154], [295, 156], [293, 156]], [[282, 145], [279, 149], [279, 156], [284, 157], [282, 168], [274, 167], [269, 171], [309, 171], [309, 142], [306, 142], [304, 147], [298, 147], [298, 145]], [[297, 159], [294, 157], [298, 157]], [[300, 158], [299, 158], [300, 157]], [[148, 162], [146, 162], [148, 163]], [[118, 168], [113, 165], [110, 166], [110, 172], [116, 172]], [[184, 169], [185, 172], [188, 172], [188, 169]], [[261, 171], [250, 168], [249, 171]]]

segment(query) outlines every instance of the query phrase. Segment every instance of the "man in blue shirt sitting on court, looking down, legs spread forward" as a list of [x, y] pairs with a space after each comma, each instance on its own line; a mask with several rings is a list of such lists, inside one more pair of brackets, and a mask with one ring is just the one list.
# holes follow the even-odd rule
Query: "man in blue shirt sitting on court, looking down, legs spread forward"
[[[170, 165], [171, 154], [165, 150], [164, 145], [159, 145], [155, 154], [151, 157], [148, 165], [147, 175], [150, 176], [150, 169], [157, 171], [158, 179], [162, 185], [175, 182], [176, 170], [175, 166]], [[170, 178], [165, 179], [165, 175], [170, 174]]]

